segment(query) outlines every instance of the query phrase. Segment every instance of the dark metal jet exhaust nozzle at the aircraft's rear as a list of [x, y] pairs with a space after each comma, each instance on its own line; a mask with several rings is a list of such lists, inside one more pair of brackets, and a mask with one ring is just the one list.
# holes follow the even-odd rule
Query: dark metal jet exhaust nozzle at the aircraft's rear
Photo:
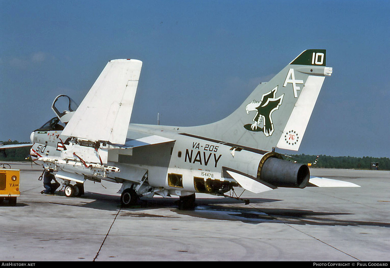
[[307, 165], [269, 157], [259, 165], [258, 178], [276, 187], [305, 188], [310, 171]]

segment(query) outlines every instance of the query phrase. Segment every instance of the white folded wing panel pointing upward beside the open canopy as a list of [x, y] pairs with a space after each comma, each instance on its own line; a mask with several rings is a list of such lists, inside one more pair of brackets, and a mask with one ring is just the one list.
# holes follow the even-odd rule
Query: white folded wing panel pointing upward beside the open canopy
[[62, 135], [124, 144], [140, 78], [140, 60], [111, 60]]

